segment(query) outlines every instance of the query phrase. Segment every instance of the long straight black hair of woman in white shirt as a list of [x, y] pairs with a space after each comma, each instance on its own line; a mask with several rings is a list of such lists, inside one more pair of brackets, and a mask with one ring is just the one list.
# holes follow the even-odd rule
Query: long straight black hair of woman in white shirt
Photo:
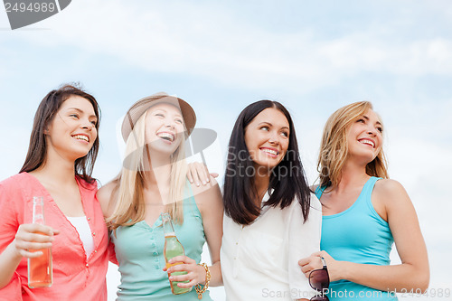
[[232, 129], [228, 164], [224, 178], [224, 211], [233, 221], [244, 225], [250, 224], [256, 216], [259, 216], [260, 208], [253, 202], [257, 195], [254, 175], [250, 176], [246, 172], [243, 173], [243, 171], [252, 169], [254, 166], [245, 144], [245, 128], [266, 108], [276, 108], [286, 116], [290, 134], [287, 153], [270, 175], [268, 191], [273, 189], [273, 192], [264, 205], [279, 206], [283, 209], [297, 198], [302, 208], [304, 221], [307, 221], [310, 190], [298, 153], [294, 123], [287, 109], [278, 101], [271, 100], [259, 100], [243, 109]]

